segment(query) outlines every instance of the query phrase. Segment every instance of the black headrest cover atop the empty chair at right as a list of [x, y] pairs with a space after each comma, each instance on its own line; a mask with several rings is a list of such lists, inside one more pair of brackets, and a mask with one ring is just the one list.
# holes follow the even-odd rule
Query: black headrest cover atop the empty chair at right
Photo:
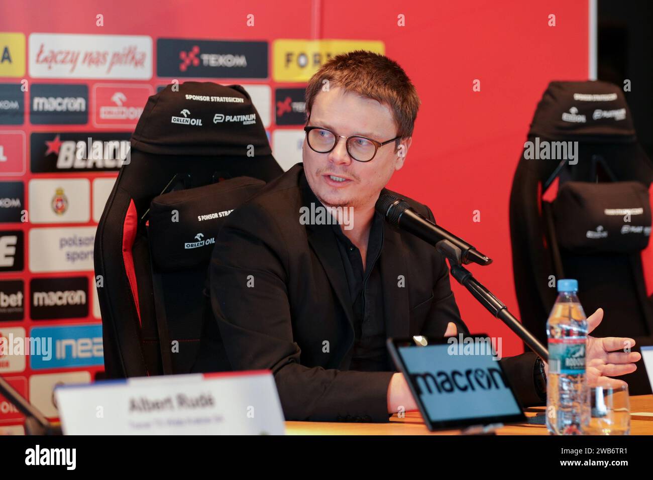
[[599, 81], [550, 82], [537, 104], [528, 136], [597, 142], [637, 138], [624, 92]]

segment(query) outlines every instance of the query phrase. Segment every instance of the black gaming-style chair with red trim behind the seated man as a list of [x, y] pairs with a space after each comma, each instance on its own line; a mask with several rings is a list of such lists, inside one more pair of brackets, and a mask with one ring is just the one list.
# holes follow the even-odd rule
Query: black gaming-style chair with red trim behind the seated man
[[185, 82], [148, 99], [95, 238], [106, 377], [190, 372], [212, 240], [281, 172], [242, 86]]

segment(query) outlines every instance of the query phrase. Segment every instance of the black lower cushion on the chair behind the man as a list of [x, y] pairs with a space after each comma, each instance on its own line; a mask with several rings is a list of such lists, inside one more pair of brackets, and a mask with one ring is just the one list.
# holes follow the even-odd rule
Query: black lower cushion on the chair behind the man
[[148, 228], [155, 268], [169, 272], [208, 264], [227, 216], [263, 185], [263, 180], [241, 176], [155, 197]]

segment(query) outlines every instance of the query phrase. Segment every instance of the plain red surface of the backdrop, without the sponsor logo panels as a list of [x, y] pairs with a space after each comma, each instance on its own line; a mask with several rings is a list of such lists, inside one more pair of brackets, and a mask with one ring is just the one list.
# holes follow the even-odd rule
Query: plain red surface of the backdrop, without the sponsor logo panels
[[[98, 14], [104, 16], [102, 27], [96, 26]], [[247, 14], [255, 15], [254, 27], [246, 25]], [[404, 27], [398, 26], [400, 14], [406, 19]], [[554, 27], [548, 26], [549, 14], [556, 16]], [[483, 270], [472, 266], [471, 270], [515, 314], [518, 308], [508, 226], [513, 172], [535, 105], [548, 82], [588, 77], [587, 1], [23, 0], [0, 5], [0, 32], [22, 32], [25, 44], [30, 33], [149, 35], [154, 49], [153, 77], [125, 83], [152, 88], [169, 80], [156, 76], [159, 37], [267, 40], [270, 42], [268, 78], [242, 83], [269, 85], [273, 94], [277, 87], [303, 86], [274, 82], [273, 40], [381, 40], [385, 54], [404, 67], [422, 100], [407, 163], [389, 186], [429, 204], [438, 223], [494, 258], [492, 266]], [[29, 77], [29, 68], [24, 78], [35, 81]], [[479, 92], [472, 91], [475, 79], [481, 81]], [[240, 83], [238, 79], [204, 80]], [[101, 82], [66, 78], [36, 81], [88, 83], [89, 89]], [[6, 82], [20, 82], [20, 78], [0, 76], [0, 83]], [[25, 104], [29, 104], [29, 95], [25, 96]], [[27, 197], [29, 180], [56, 177], [56, 174], [31, 173], [29, 135], [39, 131], [93, 131], [91, 118], [93, 112], [89, 113], [86, 127], [36, 126], [27, 120], [16, 127], [0, 125], [2, 130], [24, 131], [28, 150], [24, 178], [4, 178], [0, 172], [0, 180], [23, 180]], [[284, 128], [288, 127], [276, 127], [273, 113], [269, 130]], [[92, 180], [97, 176], [107, 174], [89, 174], [85, 178]], [[474, 210], [481, 212], [479, 223], [472, 221]], [[95, 223], [91, 220], [77, 224], [84, 225]], [[25, 269], [22, 274], [0, 273], [0, 280], [24, 278], [27, 289], [31, 278], [28, 256], [38, 252], [29, 252], [27, 248], [29, 224], [0, 225], [0, 229], [13, 228], [25, 232]], [[89, 280], [93, 278], [91, 271], [82, 274], [88, 275]], [[80, 273], [59, 276], [72, 275]], [[504, 336], [503, 355], [522, 351], [520, 341], [507, 327], [486, 313], [462, 287], [456, 284], [454, 291], [462, 316], [472, 331]], [[40, 321], [38, 325], [58, 323], [61, 321]], [[88, 319], [66, 323], [97, 323], [97, 319], [89, 314]], [[22, 322], [0, 323], [0, 327], [12, 325], [29, 331], [35, 323], [27, 315]], [[23, 374], [12, 375], [29, 373], [28, 369]]]

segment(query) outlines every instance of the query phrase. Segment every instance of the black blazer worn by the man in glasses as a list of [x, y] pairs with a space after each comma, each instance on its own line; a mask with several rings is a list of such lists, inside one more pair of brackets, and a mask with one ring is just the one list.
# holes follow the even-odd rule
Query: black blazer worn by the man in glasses
[[[272, 370], [287, 420], [388, 421], [393, 372], [347, 370], [354, 342], [347, 280], [332, 226], [300, 224], [308, 188], [297, 164], [228, 217], [209, 271], [214, 321], [195, 371]], [[399, 196], [433, 220], [428, 207]], [[449, 322], [469, 333], [444, 257], [389, 223], [383, 228], [377, 266], [387, 336], [441, 338]], [[541, 404], [535, 354], [501, 361], [522, 403]]]

